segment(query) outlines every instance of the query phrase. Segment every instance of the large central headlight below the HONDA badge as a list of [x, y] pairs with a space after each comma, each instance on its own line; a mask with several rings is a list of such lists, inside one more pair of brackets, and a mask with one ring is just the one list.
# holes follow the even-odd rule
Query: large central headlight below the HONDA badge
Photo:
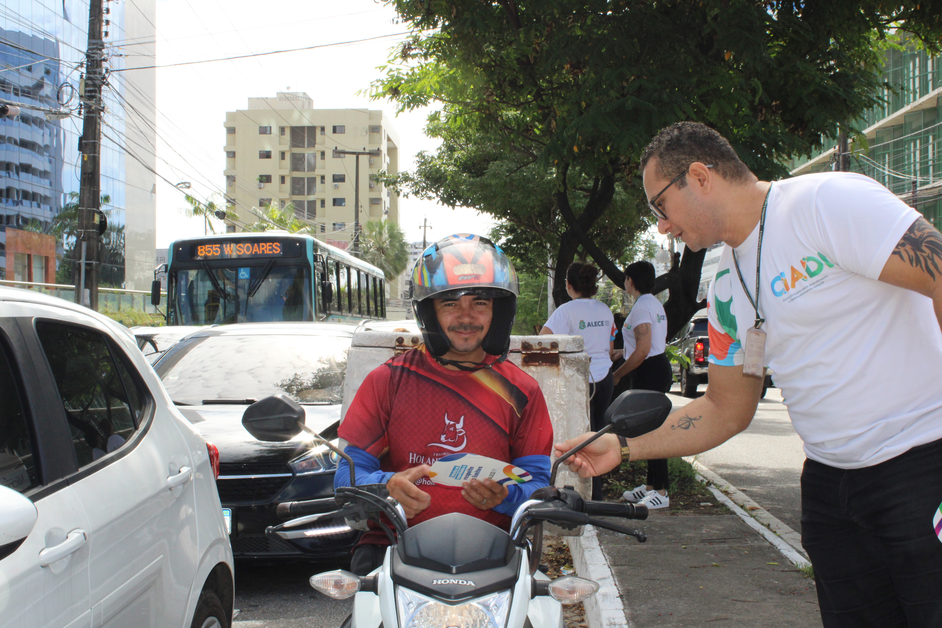
[[504, 628], [511, 592], [500, 591], [463, 604], [444, 604], [397, 587], [396, 606], [402, 628]]

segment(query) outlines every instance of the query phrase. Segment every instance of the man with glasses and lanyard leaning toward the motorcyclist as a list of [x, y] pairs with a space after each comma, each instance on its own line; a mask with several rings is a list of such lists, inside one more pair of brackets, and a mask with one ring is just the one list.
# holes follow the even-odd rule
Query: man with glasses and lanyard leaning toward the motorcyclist
[[726, 243], [708, 295], [709, 386], [658, 430], [625, 449], [603, 437], [571, 468], [723, 443], [749, 426], [771, 367], [804, 441], [802, 542], [824, 625], [942, 625], [942, 234], [859, 174], [758, 181], [694, 122], [661, 131], [642, 173], [660, 233], [691, 250]]

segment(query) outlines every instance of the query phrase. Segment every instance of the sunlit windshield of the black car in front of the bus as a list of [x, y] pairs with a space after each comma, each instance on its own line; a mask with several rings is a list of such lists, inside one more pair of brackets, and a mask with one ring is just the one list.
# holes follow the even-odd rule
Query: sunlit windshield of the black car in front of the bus
[[261, 399], [286, 393], [300, 403], [343, 401], [349, 337], [219, 335], [187, 338], [157, 362], [175, 402]]

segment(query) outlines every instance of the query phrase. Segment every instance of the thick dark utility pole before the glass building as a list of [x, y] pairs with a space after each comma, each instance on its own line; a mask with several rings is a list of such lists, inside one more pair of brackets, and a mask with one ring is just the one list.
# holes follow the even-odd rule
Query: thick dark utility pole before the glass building
[[[89, 46], [85, 54], [85, 93], [80, 94], [85, 120], [79, 149], [82, 153], [81, 178], [78, 191], [78, 246], [82, 250], [81, 282], [76, 282], [75, 302], [98, 311], [98, 270], [101, 259], [99, 224], [101, 213], [101, 147], [102, 147], [102, 68], [105, 42], [102, 26], [105, 21], [103, 0], [89, 2]], [[89, 300], [85, 291], [89, 290]]]

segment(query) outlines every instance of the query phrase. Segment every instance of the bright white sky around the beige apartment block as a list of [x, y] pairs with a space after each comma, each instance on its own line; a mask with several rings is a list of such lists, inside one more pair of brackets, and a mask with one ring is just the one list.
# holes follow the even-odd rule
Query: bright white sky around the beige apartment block
[[[157, 73], [157, 171], [166, 179], [190, 182], [201, 200], [224, 186], [225, 112], [247, 108], [250, 97], [277, 91], [305, 91], [316, 109], [382, 109], [398, 132], [399, 168], [413, 169], [414, 155], [434, 151], [438, 141], [423, 133], [431, 109], [394, 117], [386, 101], [370, 101], [366, 89], [406, 28], [395, 12], [374, 0], [157, 0], [157, 65], [249, 55], [367, 38], [382, 39], [296, 53], [254, 56], [159, 68]], [[129, 42], [130, 43], [130, 42]], [[132, 53], [134, 46], [125, 47]], [[203, 220], [183, 212], [184, 193], [157, 178], [158, 249], [178, 237], [203, 233]], [[399, 200], [399, 224], [408, 240], [421, 240], [428, 218], [429, 239], [449, 233], [487, 233], [493, 220], [472, 209], [452, 210], [434, 201]], [[217, 230], [221, 223], [217, 223]]]

